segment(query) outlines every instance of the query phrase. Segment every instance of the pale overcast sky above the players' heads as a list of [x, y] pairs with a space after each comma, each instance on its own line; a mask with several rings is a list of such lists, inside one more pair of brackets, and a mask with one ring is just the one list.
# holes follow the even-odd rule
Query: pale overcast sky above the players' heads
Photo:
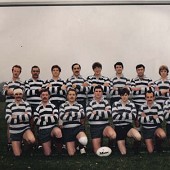
[[159, 66], [170, 65], [169, 18], [166, 5], [0, 8], [0, 81], [11, 78], [14, 64], [23, 67], [23, 80], [33, 65], [40, 66], [41, 78], [50, 78], [54, 64], [66, 79], [74, 62], [86, 77], [95, 61], [108, 77], [114, 75], [114, 63], [122, 61], [129, 78], [143, 63], [155, 80]]

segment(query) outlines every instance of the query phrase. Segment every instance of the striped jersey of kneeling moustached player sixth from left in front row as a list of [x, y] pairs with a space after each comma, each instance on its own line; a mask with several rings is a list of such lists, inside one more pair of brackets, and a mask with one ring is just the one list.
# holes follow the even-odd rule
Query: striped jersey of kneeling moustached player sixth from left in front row
[[[141, 116], [142, 112], [145, 113], [146, 117]], [[158, 118], [154, 119], [153, 115], [158, 115]], [[146, 129], [156, 128], [164, 120], [163, 110], [156, 102], [151, 108], [148, 107], [147, 103], [144, 103], [139, 110], [138, 120]]]

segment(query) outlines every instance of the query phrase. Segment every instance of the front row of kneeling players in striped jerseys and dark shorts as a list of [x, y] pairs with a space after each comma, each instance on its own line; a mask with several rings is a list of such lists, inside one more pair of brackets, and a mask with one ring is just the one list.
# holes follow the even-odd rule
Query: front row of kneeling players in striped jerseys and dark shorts
[[[10, 127], [13, 152], [16, 156], [21, 155], [22, 138], [29, 143], [35, 142], [35, 137], [29, 125], [31, 108], [27, 102], [22, 100], [22, 95], [21, 89], [14, 90], [15, 101], [7, 105], [5, 116]], [[126, 154], [126, 137], [132, 137], [136, 141], [141, 140], [140, 133], [132, 126], [137, 114], [135, 105], [128, 100], [128, 89], [122, 89], [120, 96], [121, 100], [114, 103], [111, 111], [108, 101], [103, 99], [102, 87], [96, 86], [94, 89], [94, 98], [86, 108], [94, 153], [98, 153], [102, 137], [108, 137], [110, 140], [116, 139], [121, 154]], [[49, 97], [50, 94], [47, 89], [41, 91], [42, 101], [33, 114], [44, 154], [51, 154], [51, 137], [55, 137], [58, 143], [61, 143], [63, 137], [68, 154], [72, 156], [76, 152], [75, 141], [79, 142], [80, 148], [86, 146], [88, 142], [83, 124], [85, 118], [83, 107], [76, 102], [75, 89], [70, 88], [68, 90], [67, 101], [61, 104], [59, 114], [55, 105], [49, 102]], [[112, 115], [115, 129], [109, 125], [110, 115]], [[57, 127], [58, 120], [61, 128]], [[164, 115], [161, 106], [154, 102], [154, 93], [148, 91], [146, 103], [141, 106], [139, 111], [138, 121], [142, 124], [143, 137], [149, 153], [152, 153], [154, 149], [152, 141], [154, 136], [159, 141], [166, 137], [161, 128], [163, 120]]]

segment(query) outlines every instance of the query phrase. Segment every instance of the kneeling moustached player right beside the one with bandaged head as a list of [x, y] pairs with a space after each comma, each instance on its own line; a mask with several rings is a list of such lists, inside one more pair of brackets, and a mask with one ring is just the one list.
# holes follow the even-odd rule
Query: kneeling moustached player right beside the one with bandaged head
[[55, 105], [49, 101], [48, 89], [41, 90], [40, 97], [42, 101], [34, 112], [34, 122], [38, 126], [38, 137], [42, 143], [44, 155], [50, 156], [52, 138], [61, 143], [62, 133], [57, 127], [59, 113]]

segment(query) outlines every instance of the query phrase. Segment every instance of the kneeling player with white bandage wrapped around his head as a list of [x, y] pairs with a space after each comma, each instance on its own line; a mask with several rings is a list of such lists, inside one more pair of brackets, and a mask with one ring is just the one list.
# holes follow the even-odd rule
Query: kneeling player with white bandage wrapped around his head
[[25, 102], [23, 90], [13, 90], [14, 101], [6, 107], [5, 119], [9, 124], [9, 133], [12, 141], [12, 149], [15, 156], [21, 156], [21, 142], [24, 139], [28, 144], [35, 143], [35, 137], [30, 130], [31, 107]]

